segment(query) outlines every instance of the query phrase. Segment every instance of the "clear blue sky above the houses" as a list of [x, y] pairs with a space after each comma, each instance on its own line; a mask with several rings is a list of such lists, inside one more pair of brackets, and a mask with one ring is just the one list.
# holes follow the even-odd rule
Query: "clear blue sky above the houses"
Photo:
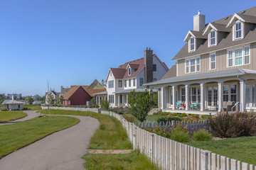
[[0, 94], [101, 81], [151, 47], [168, 67], [201, 10], [206, 23], [254, 1], [1, 0]]

